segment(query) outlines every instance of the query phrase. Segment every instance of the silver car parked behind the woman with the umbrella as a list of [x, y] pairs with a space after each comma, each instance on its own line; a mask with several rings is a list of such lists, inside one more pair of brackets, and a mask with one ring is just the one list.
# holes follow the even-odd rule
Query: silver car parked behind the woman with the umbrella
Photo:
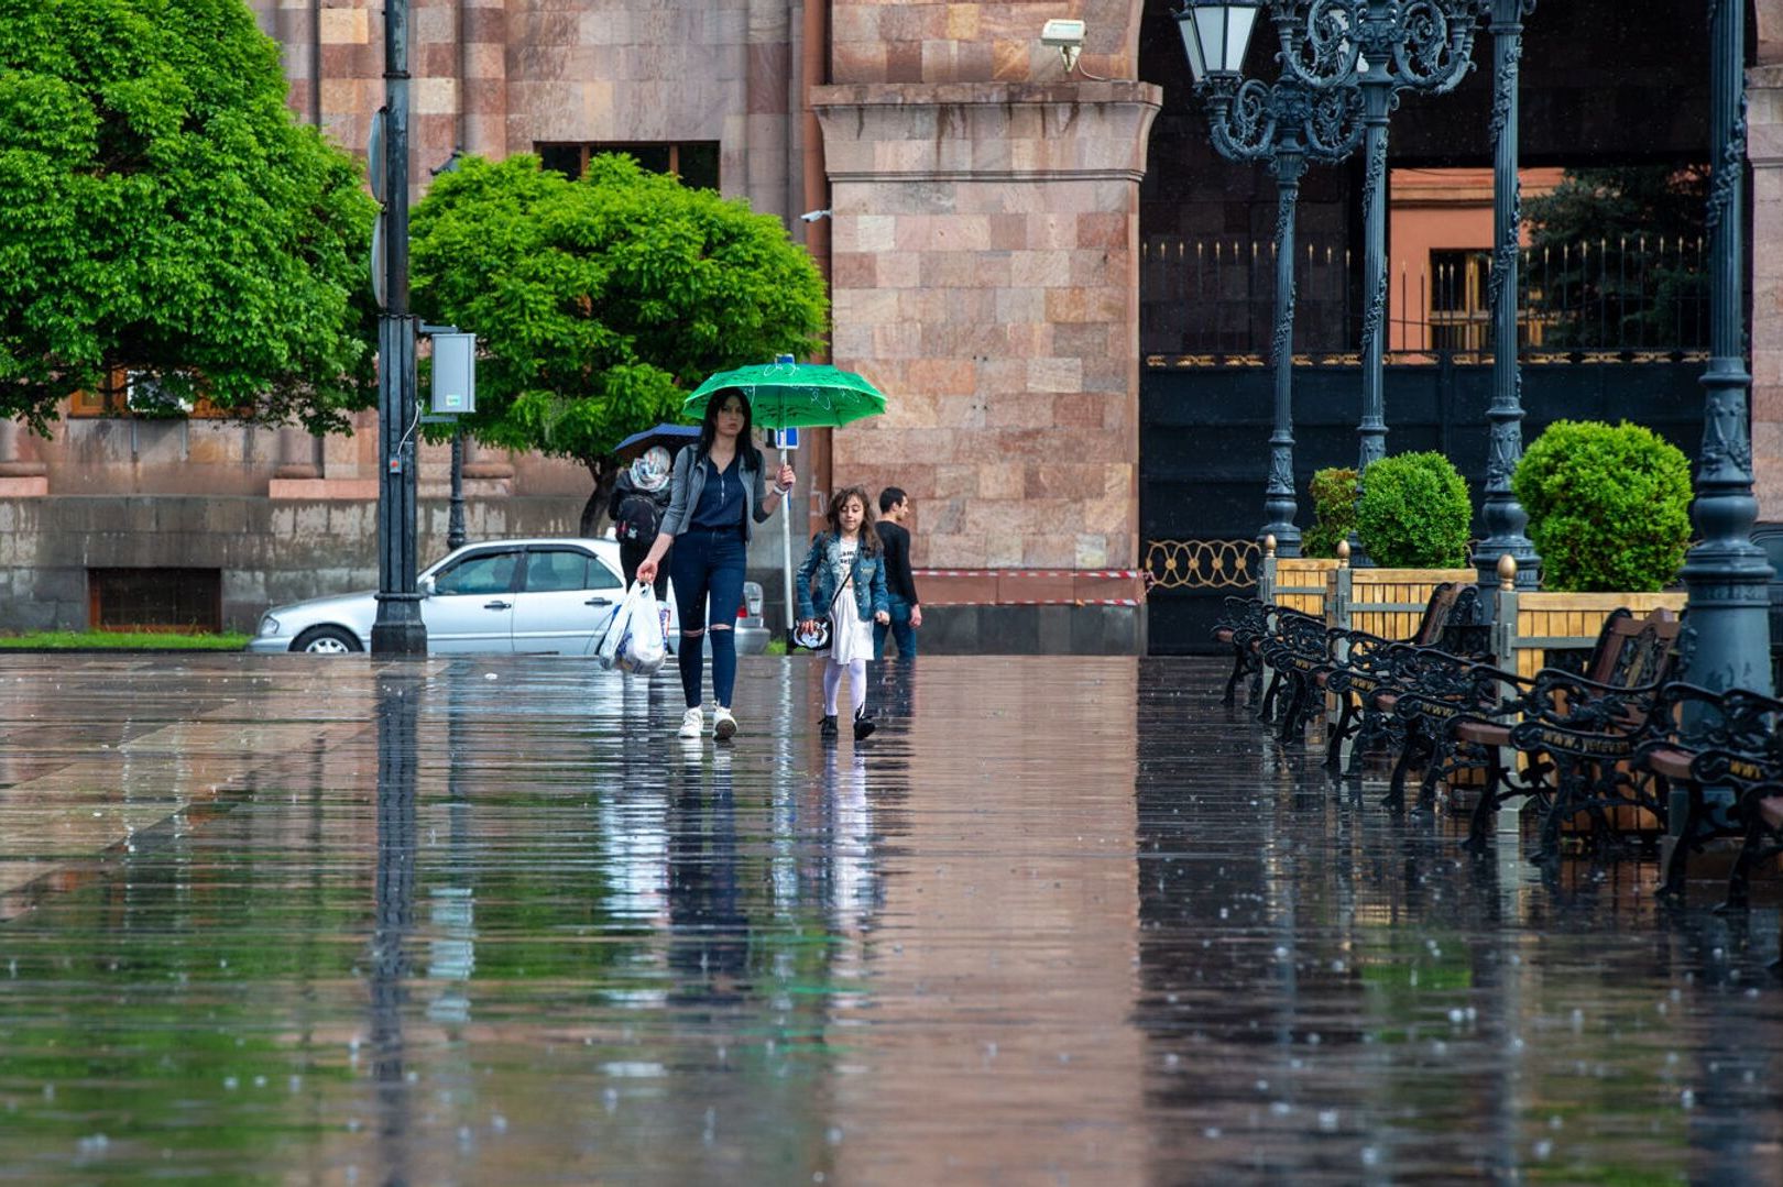
[[[435, 654], [587, 656], [626, 594], [613, 540], [490, 540], [465, 547], [421, 570], [421, 622]], [[346, 654], [371, 647], [378, 618], [374, 592], [314, 597], [275, 606], [260, 618], [248, 651]], [[669, 597], [669, 649], [678, 642], [674, 590]], [[767, 651], [761, 586], [744, 583], [736, 608], [736, 651]]]

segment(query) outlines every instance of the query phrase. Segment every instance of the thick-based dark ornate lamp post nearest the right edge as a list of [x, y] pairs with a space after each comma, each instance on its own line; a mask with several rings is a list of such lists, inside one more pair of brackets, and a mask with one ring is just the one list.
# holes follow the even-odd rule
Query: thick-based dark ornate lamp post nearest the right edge
[[1746, 397], [1742, 283], [1746, 200], [1746, 5], [1710, 0], [1713, 75], [1708, 191], [1710, 360], [1703, 374], [1703, 454], [1696, 474], [1701, 544], [1685, 558], [1690, 620], [1681, 640], [1683, 679], [1722, 690], [1771, 692], [1771, 624], [1765, 583], [1771, 565], [1751, 542], [1753, 444]]

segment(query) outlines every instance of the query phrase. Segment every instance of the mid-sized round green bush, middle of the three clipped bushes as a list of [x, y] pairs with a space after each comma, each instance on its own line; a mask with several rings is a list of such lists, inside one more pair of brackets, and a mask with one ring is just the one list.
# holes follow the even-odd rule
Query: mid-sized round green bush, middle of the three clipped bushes
[[1441, 453], [1401, 453], [1368, 467], [1355, 508], [1357, 535], [1384, 569], [1460, 569], [1473, 504], [1467, 483]]

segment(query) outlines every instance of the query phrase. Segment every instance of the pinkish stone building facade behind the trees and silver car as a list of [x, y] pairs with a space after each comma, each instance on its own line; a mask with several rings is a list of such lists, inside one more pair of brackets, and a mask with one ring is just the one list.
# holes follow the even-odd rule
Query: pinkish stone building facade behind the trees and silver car
[[[248, 2], [283, 46], [298, 118], [362, 153], [383, 102], [382, 2]], [[929, 640], [1145, 649], [1143, 604], [1125, 604], [1143, 547], [1139, 184], [1166, 96], [1138, 80], [1143, 0], [410, 4], [417, 194], [453, 150], [710, 155], [726, 194], [781, 216], [826, 267], [833, 362], [892, 396], [884, 417], [818, 435], [799, 465], [808, 494], [911, 492], [916, 563], [941, 570], [925, 588]], [[1075, 71], [1039, 43], [1059, 16], [1086, 21]], [[1758, 0], [1754, 446], [1763, 517], [1783, 520], [1783, 266], [1765, 250], [1783, 242], [1779, 30], [1783, 0]], [[1180, 118], [1186, 96], [1170, 98]], [[1221, 200], [1187, 185], [1184, 201]], [[799, 219], [806, 210], [829, 217]], [[0, 581], [12, 592], [0, 627], [84, 626], [80, 574], [103, 567], [218, 567], [232, 626], [269, 601], [366, 585], [373, 440], [371, 415], [330, 440], [98, 419], [36, 442], [0, 426]], [[587, 495], [583, 472], [540, 458], [483, 453], [467, 476], [490, 533], [571, 531]], [[431, 449], [428, 556], [444, 481]], [[139, 510], [166, 503], [169, 522], [191, 526], [173, 508], [207, 497], [241, 501], [242, 515], [162, 533], [160, 513]], [[93, 503], [57, 510], [75, 499]], [[234, 531], [259, 544], [230, 545]], [[314, 536], [291, 547], [287, 531]], [[770, 604], [774, 535], [752, 556]]]

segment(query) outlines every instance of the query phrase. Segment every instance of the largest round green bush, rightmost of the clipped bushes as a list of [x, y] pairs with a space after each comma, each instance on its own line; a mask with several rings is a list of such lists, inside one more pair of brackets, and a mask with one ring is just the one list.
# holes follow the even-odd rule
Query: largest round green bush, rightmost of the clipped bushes
[[1542, 588], [1649, 592], [1690, 547], [1690, 460], [1653, 430], [1555, 421], [1510, 479], [1542, 556]]

